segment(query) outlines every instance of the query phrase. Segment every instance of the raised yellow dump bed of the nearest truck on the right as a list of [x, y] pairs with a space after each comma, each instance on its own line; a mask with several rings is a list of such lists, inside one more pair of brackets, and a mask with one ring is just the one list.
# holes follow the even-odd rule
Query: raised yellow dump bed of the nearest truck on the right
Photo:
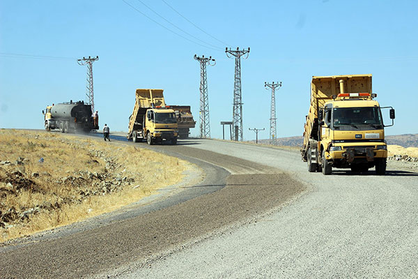
[[[340, 80], [343, 80], [340, 83]], [[343, 84], [343, 88], [340, 88]], [[318, 140], [318, 111], [332, 96], [339, 93], [371, 93], [371, 75], [333, 75], [312, 77], [311, 102], [304, 126], [302, 158], [306, 159], [309, 140]]]

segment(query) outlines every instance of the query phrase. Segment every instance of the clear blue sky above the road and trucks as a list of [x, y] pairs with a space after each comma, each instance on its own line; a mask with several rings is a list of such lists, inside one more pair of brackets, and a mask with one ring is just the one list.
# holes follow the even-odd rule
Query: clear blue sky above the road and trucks
[[211, 136], [221, 138], [220, 121], [232, 119], [228, 46], [251, 47], [241, 61], [245, 140], [256, 137], [248, 128], [265, 128], [258, 137], [269, 136], [264, 82], [273, 81], [283, 83], [277, 137], [302, 135], [312, 75], [373, 74], [376, 100], [396, 109], [386, 134], [418, 133], [417, 1], [164, 0], [211, 36], [162, 0], [125, 1], [137, 10], [122, 0], [0, 1], [1, 128], [43, 128], [46, 105], [84, 100], [86, 66], [76, 59], [98, 55], [93, 75], [100, 126], [126, 131], [135, 89], [159, 88], [169, 105], [192, 106], [192, 135], [199, 135], [197, 54], [217, 61], [208, 67], [208, 93]]

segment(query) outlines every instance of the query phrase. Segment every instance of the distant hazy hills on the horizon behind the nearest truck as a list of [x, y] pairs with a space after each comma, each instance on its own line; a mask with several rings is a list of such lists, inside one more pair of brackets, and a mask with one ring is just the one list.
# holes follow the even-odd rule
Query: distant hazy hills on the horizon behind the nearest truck
[[[249, 142], [256, 142], [250, 140]], [[259, 144], [269, 144], [269, 140], [258, 140]], [[405, 134], [405, 135], [387, 135], [387, 144], [400, 145], [405, 148], [418, 147], [418, 134]], [[280, 137], [277, 139], [277, 145], [279, 146], [302, 146], [303, 137]]]

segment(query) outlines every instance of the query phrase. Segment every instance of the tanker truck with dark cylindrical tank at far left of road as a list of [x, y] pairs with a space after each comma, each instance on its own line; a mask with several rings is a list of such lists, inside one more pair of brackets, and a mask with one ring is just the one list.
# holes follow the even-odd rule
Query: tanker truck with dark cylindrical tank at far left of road
[[[61, 133], [88, 133], [98, 130], [98, 121], [94, 123], [91, 116], [91, 105], [84, 101], [66, 102], [47, 106], [42, 110], [45, 130], [59, 129]], [[96, 125], [95, 125], [96, 124]]]

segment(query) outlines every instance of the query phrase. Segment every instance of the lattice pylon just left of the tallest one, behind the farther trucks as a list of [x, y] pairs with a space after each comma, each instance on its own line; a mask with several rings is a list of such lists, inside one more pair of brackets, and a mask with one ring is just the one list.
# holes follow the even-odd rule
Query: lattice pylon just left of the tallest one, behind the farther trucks
[[215, 66], [216, 61], [212, 59], [212, 56], [205, 57], [204, 55], [196, 56], [194, 54], [194, 60], [197, 60], [201, 64], [201, 107], [200, 107], [200, 130], [201, 137], [210, 137], [210, 123], [209, 123], [209, 98], [208, 98], [208, 76], [206, 75], [206, 65]]

